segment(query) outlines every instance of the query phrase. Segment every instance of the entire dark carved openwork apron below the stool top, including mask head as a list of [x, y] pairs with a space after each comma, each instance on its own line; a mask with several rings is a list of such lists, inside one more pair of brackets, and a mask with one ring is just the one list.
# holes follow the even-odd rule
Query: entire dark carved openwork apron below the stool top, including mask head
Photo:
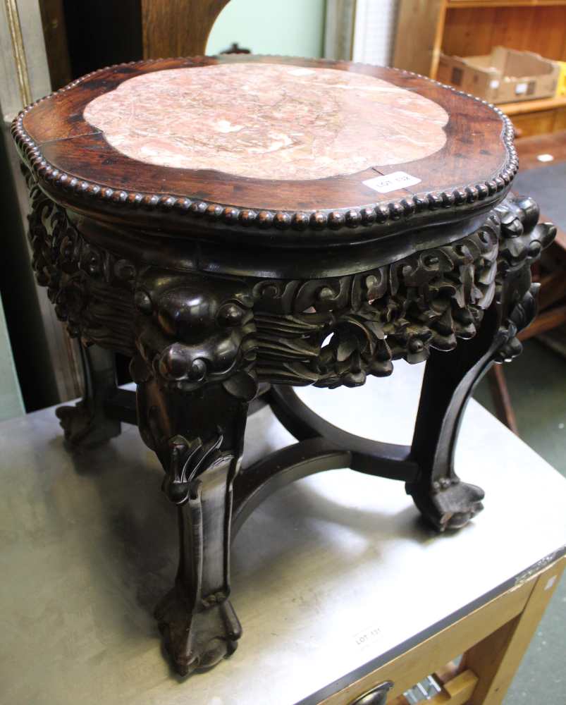
[[536, 314], [529, 266], [555, 233], [531, 199], [505, 200], [466, 238], [363, 274], [238, 279], [140, 270], [85, 240], [30, 186], [37, 281], [70, 334], [133, 356], [137, 381], [155, 375], [180, 392], [221, 381], [241, 398], [257, 379], [357, 386], [391, 374], [394, 360], [422, 362], [472, 338], [494, 297], [507, 340], [496, 357], [510, 359]]

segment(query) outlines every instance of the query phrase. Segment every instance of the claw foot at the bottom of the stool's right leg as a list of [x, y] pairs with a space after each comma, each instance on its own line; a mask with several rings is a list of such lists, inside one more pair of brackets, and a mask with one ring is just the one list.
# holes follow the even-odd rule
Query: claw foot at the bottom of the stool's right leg
[[441, 532], [461, 529], [484, 508], [481, 487], [460, 482], [457, 477], [434, 481], [432, 488], [418, 483], [407, 485], [407, 494], [412, 495], [424, 518]]

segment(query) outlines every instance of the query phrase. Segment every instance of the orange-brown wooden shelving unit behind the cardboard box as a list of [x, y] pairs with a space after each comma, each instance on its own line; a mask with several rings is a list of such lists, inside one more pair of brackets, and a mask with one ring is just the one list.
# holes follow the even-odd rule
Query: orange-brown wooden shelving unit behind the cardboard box
[[[393, 66], [436, 78], [442, 51], [474, 56], [498, 45], [566, 61], [566, 0], [400, 0]], [[566, 97], [499, 107], [522, 136], [566, 129]]]

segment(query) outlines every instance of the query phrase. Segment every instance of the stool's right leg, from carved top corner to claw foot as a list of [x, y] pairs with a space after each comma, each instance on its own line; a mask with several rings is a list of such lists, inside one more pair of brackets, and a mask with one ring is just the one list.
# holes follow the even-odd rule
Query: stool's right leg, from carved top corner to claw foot
[[419, 465], [417, 481], [407, 493], [434, 527], [459, 529], [482, 509], [484, 492], [460, 482], [454, 470], [457, 434], [474, 386], [493, 362], [521, 352], [516, 336], [536, 316], [538, 284], [531, 282], [531, 263], [554, 238], [555, 228], [537, 224], [533, 200], [504, 201], [496, 209], [500, 242], [496, 294], [475, 338], [456, 350], [431, 352], [414, 429], [412, 457]]

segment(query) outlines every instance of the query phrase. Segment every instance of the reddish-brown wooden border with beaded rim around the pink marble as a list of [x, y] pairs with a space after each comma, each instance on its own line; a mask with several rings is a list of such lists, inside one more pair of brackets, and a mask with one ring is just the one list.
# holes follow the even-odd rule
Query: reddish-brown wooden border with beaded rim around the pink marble
[[[446, 143], [430, 157], [405, 164], [375, 164], [358, 173], [324, 179], [273, 181], [142, 164], [113, 149], [82, 116], [92, 99], [134, 76], [249, 61], [364, 73], [415, 91], [448, 112]], [[214, 85], [210, 90], [214, 92]], [[142, 223], [147, 212], [166, 210], [169, 228], [186, 229], [187, 221], [195, 221], [190, 220], [191, 214], [198, 217], [204, 211], [205, 217], [195, 223], [201, 230], [210, 232], [222, 223], [224, 231], [242, 231], [247, 226], [248, 231], [273, 231], [280, 239], [293, 231], [338, 231], [335, 237], [340, 238], [340, 231], [348, 226], [363, 238], [368, 228], [395, 229], [414, 214], [427, 222], [438, 221], [442, 212], [445, 217], [449, 212], [462, 216], [500, 200], [517, 168], [510, 123], [493, 107], [417, 75], [344, 61], [229, 55], [122, 65], [87, 76], [32, 106], [15, 132], [42, 188], [80, 212], [117, 214], [119, 209], [123, 218]], [[421, 183], [387, 194], [362, 183], [393, 171], [406, 171]], [[315, 213], [320, 214], [319, 221]], [[183, 219], [183, 214], [189, 217]]]

